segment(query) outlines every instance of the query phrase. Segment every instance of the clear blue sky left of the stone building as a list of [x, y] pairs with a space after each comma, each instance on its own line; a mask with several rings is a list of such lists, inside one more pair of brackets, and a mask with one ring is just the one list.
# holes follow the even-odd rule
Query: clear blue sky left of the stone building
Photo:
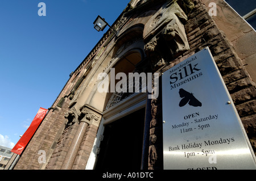
[[[46, 4], [39, 16], [38, 4]], [[57, 95], [104, 35], [93, 28], [101, 15], [111, 25], [130, 0], [0, 1], [0, 145], [12, 148], [40, 107]]]

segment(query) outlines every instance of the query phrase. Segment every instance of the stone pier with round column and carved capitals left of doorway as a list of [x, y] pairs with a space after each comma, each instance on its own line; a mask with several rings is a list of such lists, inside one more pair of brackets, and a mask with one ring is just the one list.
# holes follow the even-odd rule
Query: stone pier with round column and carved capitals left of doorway
[[[72, 108], [65, 115], [69, 121], [59, 141], [54, 145], [55, 149], [46, 166], [47, 170], [85, 169], [101, 118], [97, 111], [94, 113], [93, 108], [91, 110], [88, 106], [85, 107], [81, 109], [77, 117], [69, 117], [74, 113]], [[72, 123], [70, 120], [73, 120]]]

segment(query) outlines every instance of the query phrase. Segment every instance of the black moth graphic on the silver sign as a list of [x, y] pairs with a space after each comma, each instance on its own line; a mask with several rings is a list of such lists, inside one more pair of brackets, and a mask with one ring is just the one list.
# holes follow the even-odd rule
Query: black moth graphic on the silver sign
[[202, 106], [202, 103], [193, 96], [193, 93], [189, 93], [184, 89], [179, 90], [180, 97], [183, 98], [180, 100], [179, 106], [183, 107], [185, 104], [189, 104], [190, 106], [197, 107]]

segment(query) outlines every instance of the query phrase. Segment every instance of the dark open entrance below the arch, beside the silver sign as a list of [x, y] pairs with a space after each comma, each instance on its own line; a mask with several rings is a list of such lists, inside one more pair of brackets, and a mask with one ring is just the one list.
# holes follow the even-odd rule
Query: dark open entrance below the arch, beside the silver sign
[[140, 170], [145, 109], [105, 126], [96, 170]]

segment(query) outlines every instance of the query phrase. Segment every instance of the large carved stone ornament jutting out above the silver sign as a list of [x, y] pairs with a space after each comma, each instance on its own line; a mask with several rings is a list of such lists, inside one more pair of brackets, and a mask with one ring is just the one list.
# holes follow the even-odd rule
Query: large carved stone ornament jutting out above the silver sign
[[145, 24], [143, 39], [146, 43], [144, 50], [154, 68], [165, 65], [165, 50], [176, 58], [189, 50], [189, 44], [183, 23], [187, 21], [188, 12], [193, 7], [191, 1], [168, 1]]

